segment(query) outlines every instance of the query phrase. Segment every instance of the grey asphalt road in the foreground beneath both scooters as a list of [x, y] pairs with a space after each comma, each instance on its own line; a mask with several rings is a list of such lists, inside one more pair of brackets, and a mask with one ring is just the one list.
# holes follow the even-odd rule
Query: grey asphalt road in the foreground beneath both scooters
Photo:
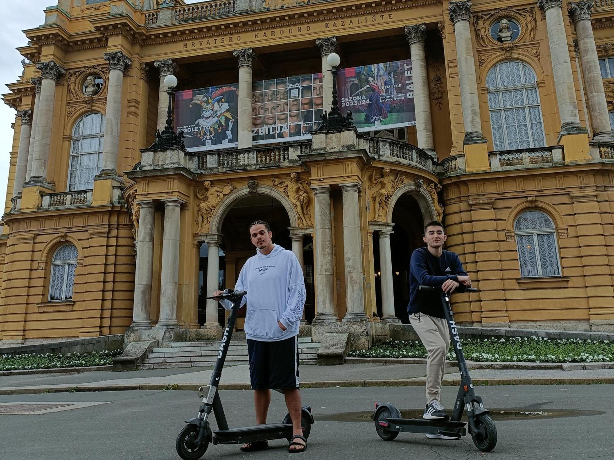
[[[476, 450], [470, 437], [444, 441], [400, 434], [392, 442], [379, 439], [368, 418], [373, 403], [394, 402], [402, 410], [421, 410], [422, 388], [321, 388], [301, 393], [303, 404], [311, 404], [316, 418], [306, 453], [289, 454], [287, 442], [276, 440], [270, 442], [268, 450], [258, 453], [241, 453], [236, 445], [210, 445], [203, 458], [614, 458], [612, 385], [478, 387], [477, 393], [492, 410], [499, 433], [497, 447], [486, 454]], [[231, 426], [254, 423], [251, 391], [222, 391], [221, 396]], [[443, 388], [446, 407], [453, 404], [454, 396], [456, 389]], [[0, 459], [176, 460], [176, 435], [200, 404], [195, 392], [184, 391], [0, 396], [4, 405], [35, 402], [106, 404], [70, 410], [60, 407], [55, 409], [58, 412], [36, 415], [0, 412]], [[282, 396], [274, 393], [269, 421], [281, 421], [285, 412]], [[519, 412], [546, 415], [523, 416]]]

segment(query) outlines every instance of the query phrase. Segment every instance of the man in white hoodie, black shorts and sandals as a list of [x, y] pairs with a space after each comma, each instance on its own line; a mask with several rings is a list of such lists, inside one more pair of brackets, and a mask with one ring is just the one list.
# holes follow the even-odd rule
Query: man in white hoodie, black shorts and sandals
[[[297, 256], [273, 244], [268, 223], [257, 220], [249, 227], [256, 255], [247, 259], [235, 284], [247, 291], [245, 335], [249, 353], [249, 377], [254, 389], [256, 423], [266, 423], [271, 389], [284, 393], [292, 418], [290, 452], [307, 448], [301, 429], [301, 396], [298, 391], [298, 325], [305, 307], [305, 279]], [[214, 296], [222, 291], [216, 291]], [[220, 301], [225, 309], [231, 302]], [[266, 441], [249, 442], [242, 451], [262, 450]]]

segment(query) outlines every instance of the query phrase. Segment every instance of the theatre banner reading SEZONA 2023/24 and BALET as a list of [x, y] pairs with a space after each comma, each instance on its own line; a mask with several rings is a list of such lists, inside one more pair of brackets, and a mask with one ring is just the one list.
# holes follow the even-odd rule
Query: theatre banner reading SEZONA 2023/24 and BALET
[[337, 72], [339, 109], [358, 131], [416, 125], [411, 60], [349, 67]]

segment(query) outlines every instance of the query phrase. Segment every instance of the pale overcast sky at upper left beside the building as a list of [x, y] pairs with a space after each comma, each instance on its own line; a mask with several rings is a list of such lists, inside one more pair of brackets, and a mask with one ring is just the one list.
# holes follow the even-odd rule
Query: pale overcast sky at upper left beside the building
[[[186, 0], [186, 3], [196, 3], [199, 0]], [[27, 44], [24, 29], [31, 29], [44, 23], [45, 7], [58, 4], [54, 0], [25, 0], [10, 2], [10, 12], [0, 17], [0, 91], [9, 92], [6, 83], [18, 80], [23, 67], [21, 56], [15, 48]], [[0, 104], [0, 216], [4, 214], [4, 200], [6, 199], [6, 186], [9, 178], [10, 150], [13, 142], [13, 130], [10, 124], [15, 121], [15, 110], [8, 105]]]

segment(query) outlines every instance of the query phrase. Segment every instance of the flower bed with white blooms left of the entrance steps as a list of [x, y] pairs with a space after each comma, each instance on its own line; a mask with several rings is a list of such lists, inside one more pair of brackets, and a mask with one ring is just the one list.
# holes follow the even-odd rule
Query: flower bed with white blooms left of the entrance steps
[[0, 370], [57, 369], [58, 367], [106, 366], [113, 364], [113, 357], [122, 350], [93, 351], [92, 353], [66, 353], [63, 355], [22, 354], [0, 356]]

